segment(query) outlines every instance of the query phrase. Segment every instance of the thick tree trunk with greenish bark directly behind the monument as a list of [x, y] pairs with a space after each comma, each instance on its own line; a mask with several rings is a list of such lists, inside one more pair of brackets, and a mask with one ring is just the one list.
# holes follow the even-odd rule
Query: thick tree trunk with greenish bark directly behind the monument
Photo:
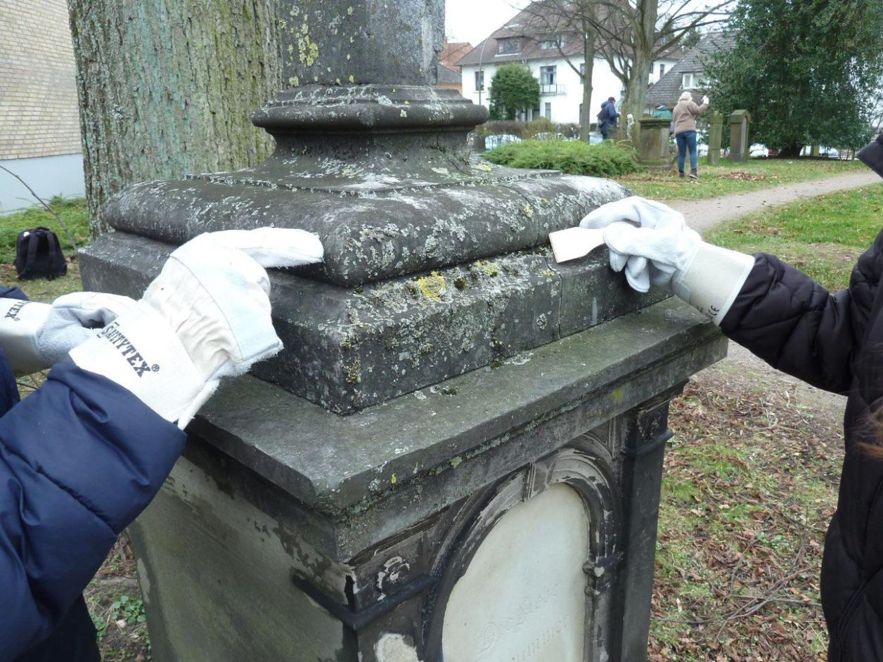
[[248, 114], [282, 87], [277, 0], [68, 0], [86, 192], [242, 168], [272, 140]]

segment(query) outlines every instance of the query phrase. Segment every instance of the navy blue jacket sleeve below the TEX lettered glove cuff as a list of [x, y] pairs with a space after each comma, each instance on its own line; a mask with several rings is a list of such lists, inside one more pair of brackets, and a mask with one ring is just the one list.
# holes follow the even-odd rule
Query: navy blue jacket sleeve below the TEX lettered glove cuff
[[55, 628], [184, 441], [134, 395], [74, 365], [55, 367], [0, 418], [0, 659]]

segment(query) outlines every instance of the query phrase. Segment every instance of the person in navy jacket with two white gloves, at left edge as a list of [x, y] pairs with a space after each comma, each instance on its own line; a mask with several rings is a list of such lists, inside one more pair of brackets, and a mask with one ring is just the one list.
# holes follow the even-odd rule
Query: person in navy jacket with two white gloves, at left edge
[[[0, 288], [0, 662], [100, 659], [83, 589], [218, 380], [281, 349], [263, 266], [321, 258], [300, 230], [234, 230], [172, 252], [137, 302]], [[62, 359], [19, 402], [14, 374]]]

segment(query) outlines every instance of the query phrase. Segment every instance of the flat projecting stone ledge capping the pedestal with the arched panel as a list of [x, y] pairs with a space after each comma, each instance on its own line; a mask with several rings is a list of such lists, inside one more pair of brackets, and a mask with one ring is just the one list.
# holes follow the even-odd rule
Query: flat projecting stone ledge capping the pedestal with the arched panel
[[[224, 385], [191, 429], [329, 515], [358, 510], [366, 499], [395, 493], [436, 467], [453, 469], [454, 457], [461, 460], [455, 463], [459, 498], [471, 493], [473, 480], [487, 478], [471, 475], [472, 459], [506, 443], [513, 430], [595, 397], [602, 402], [590, 416], [600, 425], [721, 358], [726, 345], [719, 338], [700, 313], [668, 299], [498, 369], [468, 372], [346, 417], [246, 377]], [[675, 359], [683, 363], [670, 363]], [[567, 425], [531, 439], [536, 448], [518, 446], [527, 455], [508, 453], [518, 461], [540, 456], [576, 436], [580, 425], [592, 426], [585, 419]], [[487, 469], [487, 456], [477, 464]]]

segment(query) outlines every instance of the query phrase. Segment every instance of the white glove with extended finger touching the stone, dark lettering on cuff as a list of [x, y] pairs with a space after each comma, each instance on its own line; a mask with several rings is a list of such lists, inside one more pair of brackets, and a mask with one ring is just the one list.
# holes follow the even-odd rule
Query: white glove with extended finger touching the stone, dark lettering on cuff
[[184, 429], [222, 377], [282, 349], [264, 267], [321, 262], [299, 229], [226, 230], [172, 252], [131, 312], [71, 352], [73, 362], [132, 391]]

